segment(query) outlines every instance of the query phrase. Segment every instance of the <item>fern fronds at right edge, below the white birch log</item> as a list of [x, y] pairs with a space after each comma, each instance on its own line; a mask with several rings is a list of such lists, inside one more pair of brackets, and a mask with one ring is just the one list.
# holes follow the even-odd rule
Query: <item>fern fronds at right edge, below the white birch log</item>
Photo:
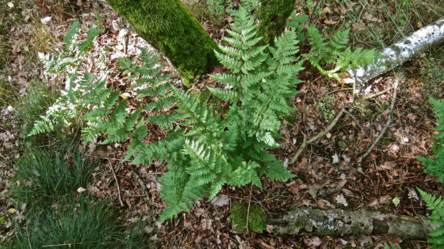
[[432, 109], [436, 118], [436, 131], [438, 134], [434, 136], [435, 142], [432, 147], [434, 154], [433, 158], [425, 158], [418, 156], [418, 160], [425, 166], [425, 172], [438, 178], [441, 183], [444, 183], [444, 101], [429, 98], [432, 103]]

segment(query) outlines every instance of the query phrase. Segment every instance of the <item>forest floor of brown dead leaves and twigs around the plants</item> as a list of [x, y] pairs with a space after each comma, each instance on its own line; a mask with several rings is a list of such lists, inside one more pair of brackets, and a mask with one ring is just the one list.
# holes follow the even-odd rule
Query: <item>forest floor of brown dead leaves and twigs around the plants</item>
[[[65, 2], [11, 1], [12, 7], [0, 3], [3, 4], [0, 6], [3, 15], [0, 19], [3, 29], [0, 33], [0, 216], [5, 217], [0, 217], [2, 242], [14, 237], [15, 219], [26, 212], [18, 208], [8, 194], [10, 187], [17, 184], [11, 180], [15, 177], [15, 162], [26, 153], [24, 145], [28, 138], [23, 133], [23, 126], [30, 125], [17, 120], [22, 112], [20, 107], [26, 105], [31, 88], [41, 85], [50, 86], [51, 89], [62, 88], [61, 80], [46, 79], [37, 52], [54, 53], [76, 19], [80, 19], [81, 26], [96, 24], [105, 33], [97, 37], [95, 47], [88, 56], [95, 57], [101, 51], [108, 50], [109, 73], [114, 75], [109, 83], [124, 88], [117, 68], [117, 50], [127, 46], [127, 55], [135, 57], [139, 53], [137, 46], [149, 47], [106, 3], [89, 0]], [[343, 6], [334, 1], [298, 1], [296, 12], [309, 15], [310, 24], [327, 35], [341, 26], [350, 27], [354, 46], [377, 48], [399, 40], [401, 31], [409, 35], [419, 26], [426, 26], [439, 16], [444, 16], [444, 4], [439, 0], [429, 1], [440, 8], [434, 12], [429, 10], [427, 18], [424, 13], [430, 7], [420, 6], [416, 1], [409, 6], [409, 12], [398, 9], [402, 5], [396, 1], [371, 2], [366, 5], [361, 1], [350, 1], [350, 4]], [[386, 15], [386, 11], [392, 15]], [[360, 14], [353, 15], [355, 12]], [[205, 13], [195, 14], [219, 44], [232, 18], [221, 17], [219, 23], [214, 24], [206, 18]], [[41, 20], [44, 17], [51, 17], [51, 20]], [[393, 21], [398, 24], [393, 24]], [[379, 35], [366, 32], [378, 28], [381, 29]], [[393, 29], [397, 29], [396, 32]], [[82, 28], [82, 32], [86, 33], [85, 28]], [[307, 49], [302, 44], [302, 53]], [[444, 95], [443, 52], [442, 45], [429, 48], [420, 57], [368, 82], [359, 94], [353, 94], [352, 86], [329, 80], [305, 63], [306, 68], [300, 73], [302, 83], [297, 86], [300, 94], [291, 99], [298, 111], [283, 120], [284, 126], [280, 129], [283, 138], [279, 140], [282, 147], [273, 153], [280, 160], [288, 162], [296, 153], [304, 134], [311, 138], [325, 130], [343, 105], [355, 119], [343, 116], [324, 138], [307, 146], [296, 163], [288, 165], [289, 172], [297, 175], [288, 181], [271, 183], [268, 178], [262, 178], [262, 190], [250, 188], [250, 185], [237, 188], [225, 186], [214, 201], [196, 201], [191, 213], [184, 212], [177, 219], [157, 223], [156, 219], [164, 207], [157, 192], [157, 177], [166, 172], [167, 167], [159, 163], [153, 163], [150, 167], [120, 163], [126, 156], [127, 141], [112, 146], [97, 143], [76, 145], [83, 156], [99, 159], [92, 181], [87, 186], [79, 187], [84, 187], [99, 199], [110, 199], [121, 213], [121, 219], [127, 223], [141, 221], [146, 237], [155, 241], [158, 248], [382, 248], [382, 244], [388, 241], [402, 243], [403, 248], [426, 248], [426, 241], [405, 242], [380, 235], [334, 238], [275, 237], [267, 232], [233, 234], [228, 216], [232, 204], [249, 201], [260, 205], [268, 214], [298, 206], [368, 209], [409, 216], [427, 214], [424, 202], [418, 199], [416, 187], [432, 194], [442, 195], [444, 192], [436, 178], [423, 173], [424, 167], [416, 156], [428, 156], [433, 144], [431, 136], [435, 133], [436, 122], [427, 98], [429, 95]], [[225, 68], [216, 68], [212, 73], [221, 71], [225, 71]], [[164, 72], [174, 73], [169, 66]], [[401, 80], [393, 122], [377, 147], [364, 159], [361, 167], [357, 167], [357, 158], [364, 154], [384, 127], [393, 91], [375, 98], [366, 97], [389, 89], [397, 76]], [[214, 84], [216, 82], [210, 77], [204, 76], [191, 90], [202, 92], [205, 86]], [[41, 111], [44, 113], [43, 107]], [[152, 128], [150, 138], [155, 140], [163, 136], [160, 129]], [[51, 140], [46, 147], [51, 148]], [[329, 196], [323, 194], [329, 188], [338, 191]], [[398, 205], [395, 205], [395, 199], [400, 201]]]

